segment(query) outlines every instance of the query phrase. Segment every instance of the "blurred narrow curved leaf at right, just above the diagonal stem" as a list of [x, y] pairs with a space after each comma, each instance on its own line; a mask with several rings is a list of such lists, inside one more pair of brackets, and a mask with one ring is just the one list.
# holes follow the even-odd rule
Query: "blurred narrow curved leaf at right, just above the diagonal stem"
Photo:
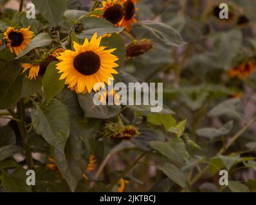
[[224, 135], [227, 135], [228, 133], [230, 133], [230, 131], [232, 130], [232, 127], [233, 127], [233, 121], [230, 121], [230, 122], [224, 124], [224, 126], [221, 127], [220, 129], [215, 129], [212, 127], [198, 129], [196, 131], [196, 134], [199, 136], [205, 136], [206, 138], [209, 138], [210, 140], [214, 140], [215, 138], [217, 138], [219, 136], [224, 136]]

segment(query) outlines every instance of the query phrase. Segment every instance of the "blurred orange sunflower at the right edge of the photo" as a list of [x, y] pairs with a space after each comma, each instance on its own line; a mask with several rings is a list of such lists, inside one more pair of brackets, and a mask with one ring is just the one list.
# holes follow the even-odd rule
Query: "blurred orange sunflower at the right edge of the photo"
[[228, 72], [231, 78], [238, 77], [238, 78], [247, 78], [254, 70], [256, 69], [256, 62], [255, 61], [248, 61], [247, 63], [243, 63], [233, 67]]

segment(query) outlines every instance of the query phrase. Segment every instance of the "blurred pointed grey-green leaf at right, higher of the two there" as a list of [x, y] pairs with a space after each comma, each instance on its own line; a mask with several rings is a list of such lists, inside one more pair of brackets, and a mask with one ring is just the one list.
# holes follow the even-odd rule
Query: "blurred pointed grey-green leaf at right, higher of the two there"
[[240, 99], [229, 99], [215, 106], [215, 108], [208, 113], [208, 117], [227, 115], [229, 117], [241, 119], [241, 113], [237, 111], [240, 106]]

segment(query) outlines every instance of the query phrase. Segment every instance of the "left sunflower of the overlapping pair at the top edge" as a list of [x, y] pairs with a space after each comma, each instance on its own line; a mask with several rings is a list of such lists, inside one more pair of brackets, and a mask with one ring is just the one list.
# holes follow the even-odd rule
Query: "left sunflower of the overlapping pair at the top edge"
[[104, 13], [100, 17], [108, 20], [112, 24], [118, 26], [118, 23], [123, 19], [124, 10], [120, 0], [106, 0], [102, 1], [102, 8]]

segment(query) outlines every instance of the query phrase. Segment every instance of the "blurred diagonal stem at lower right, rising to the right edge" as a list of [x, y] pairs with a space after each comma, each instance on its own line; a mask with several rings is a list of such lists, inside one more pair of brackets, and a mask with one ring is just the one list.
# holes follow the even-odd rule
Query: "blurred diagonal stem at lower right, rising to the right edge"
[[[226, 150], [239, 138], [239, 136], [241, 136], [254, 122], [256, 122], [256, 116], [253, 119], [251, 119], [250, 122], [246, 124], [246, 126], [244, 126], [237, 134], [235, 134], [232, 137], [228, 144], [217, 153], [216, 157], [226, 152]], [[209, 165], [207, 165], [201, 172], [199, 172], [199, 174], [197, 174], [197, 176], [194, 177], [194, 179], [191, 181], [190, 185], [193, 186], [194, 184], [196, 184], [197, 181], [201, 179], [201, 177], [206, 173], [208, 168]]]

